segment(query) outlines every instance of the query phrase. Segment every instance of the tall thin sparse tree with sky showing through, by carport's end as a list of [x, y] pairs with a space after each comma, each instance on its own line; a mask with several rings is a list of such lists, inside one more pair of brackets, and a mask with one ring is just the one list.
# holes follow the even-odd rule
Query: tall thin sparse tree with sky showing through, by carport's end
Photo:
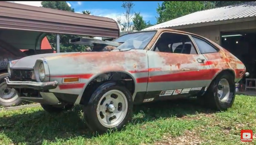
[[125, 9], [125, 21], [123, 22], [121, 18], [119, 17], [117, 22], [121, 25], [121, 31], [129, 31], [132, 28], [132, 16], [133, 16], [133, 6], [134, 3], [132, 1], [123, 1], [122, 8]]

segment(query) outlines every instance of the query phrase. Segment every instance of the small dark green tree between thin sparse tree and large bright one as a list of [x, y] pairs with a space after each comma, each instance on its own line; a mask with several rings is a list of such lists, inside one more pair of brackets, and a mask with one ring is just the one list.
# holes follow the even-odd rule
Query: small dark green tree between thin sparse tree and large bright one
[[132, 21], [133, 21], [133, 29], [134, 30], [142, 30], [142, 29], [145, 29], [149, 26], [152, 26], [150, 24], [150, 22], [146, 22], [145, 20], [143, 20], [143, 17], [140, 15], [140, 13], [134, 13], [134, 17], [132, 18]]

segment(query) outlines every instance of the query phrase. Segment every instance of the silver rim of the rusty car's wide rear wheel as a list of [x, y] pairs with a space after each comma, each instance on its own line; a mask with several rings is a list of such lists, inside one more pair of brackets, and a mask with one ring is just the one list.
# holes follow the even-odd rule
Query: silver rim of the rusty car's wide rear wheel
[[230, 88], [229, 82], [226, 79], [221, 79], [218, 84], [218, 97], [220, 102], [226, 102], [229, 98]]

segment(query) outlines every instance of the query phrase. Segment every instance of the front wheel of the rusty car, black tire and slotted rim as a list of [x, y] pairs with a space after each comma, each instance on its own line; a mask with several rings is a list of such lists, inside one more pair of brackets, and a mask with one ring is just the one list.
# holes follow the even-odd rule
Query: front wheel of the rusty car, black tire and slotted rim
[[105, 82], [84, 106], [84, 119], [94, 133], [102, 134], [109, 129], [119, 131], [131, 120], [132, 109], [130, 91], [116, 82]]

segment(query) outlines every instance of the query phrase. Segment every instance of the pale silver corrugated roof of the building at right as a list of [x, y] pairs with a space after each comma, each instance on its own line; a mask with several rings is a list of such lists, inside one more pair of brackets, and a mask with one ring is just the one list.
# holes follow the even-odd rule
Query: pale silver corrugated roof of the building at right
[[194, 12], [164, 23], [160, 23], [148, 29], [169, 28], [191, 24], [207, 23], [214, 21], [225, 21], [256, 16], [256, 2], [247, 2], [238, 5], [230, 5], [210, 10]]

